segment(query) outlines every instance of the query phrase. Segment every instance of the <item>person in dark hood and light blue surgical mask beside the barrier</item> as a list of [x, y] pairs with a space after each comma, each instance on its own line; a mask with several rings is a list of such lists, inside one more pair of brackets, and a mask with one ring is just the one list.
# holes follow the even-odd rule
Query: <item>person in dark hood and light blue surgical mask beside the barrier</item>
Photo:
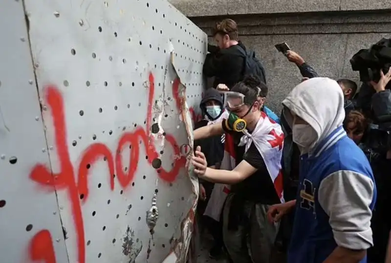
[[[220, 93], [215, 88], [206, 90], [200, 103], [200, 109], [204, 116], [202, 120], [195, 124], [194, 129], [211, 125], [219, 119], [223, 113], [223, 100]], [[225, 134], [212, 136], [209, 138], [195, 140], [194, 147], [200, 146], [205, 150], [205, 157], [212, 168], [218, 168], [224, 155]], [[200, 179], [200, 201], [197, 204], [199, 215], [204, 215], [206, 205], [210, 199], [214, 183]], [[211, 258], [218, 258], [222, 254], [223, 239], [222, 225], [219, 221], [208, 216], [202, 217], [202, 222], [214, 238], [214, 245], [209, 251]]]

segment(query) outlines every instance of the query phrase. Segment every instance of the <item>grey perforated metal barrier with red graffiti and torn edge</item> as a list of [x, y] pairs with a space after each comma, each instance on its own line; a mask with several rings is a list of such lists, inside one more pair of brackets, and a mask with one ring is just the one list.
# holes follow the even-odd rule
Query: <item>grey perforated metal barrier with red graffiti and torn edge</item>
[[185, 262], [206, 35], [166, 0], [3, 0], [0, 36], [1, 262]]

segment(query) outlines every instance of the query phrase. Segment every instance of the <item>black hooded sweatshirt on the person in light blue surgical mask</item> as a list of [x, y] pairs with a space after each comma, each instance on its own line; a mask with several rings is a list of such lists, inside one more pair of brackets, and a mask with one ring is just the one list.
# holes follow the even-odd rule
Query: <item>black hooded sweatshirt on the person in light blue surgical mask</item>
[[[208, 90], [206, 90], [204, 94], [204, 98], [202, 99], [200, 104], [202, 115], [203, 116], [207, 115], [205, 103], [210, 100], [215, 100], [220, 104], [221, 106], [220, 115], [221, 115], [224, 110], [223, 100], [220, 93], [215, 88], [209, 88]], [[210, 116], [208, 116], [208, 118], [211, 119]], [[209, 121], [204, 118], [203, 120], [195, 124], [194, 130], [206, 126], [208, 122]], [[206, 139], [196, 140], [194, 142], [194, 148], [196, 148], [197, 146], [201, 146], [201, 151], [202, 153], [205, 154], [205, 158], [206, 161], [208, 162], [208, 166], [216, 165], [216, 163], [221, 163], [221, 160], [224, 155], [224, 138], [225, 136], [223, 134], [223, 135], [217, 135]]]

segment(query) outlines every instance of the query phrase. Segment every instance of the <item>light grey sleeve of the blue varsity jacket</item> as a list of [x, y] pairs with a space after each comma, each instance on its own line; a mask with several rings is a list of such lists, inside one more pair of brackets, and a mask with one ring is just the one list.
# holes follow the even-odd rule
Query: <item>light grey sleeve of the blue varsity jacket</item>
[[369, 177], [352, 171], [338, 171], [322, 180], [318, 200], [330, 218], [338, 246], [364, 250], [373, 245], [369, 207], [373, 189]]

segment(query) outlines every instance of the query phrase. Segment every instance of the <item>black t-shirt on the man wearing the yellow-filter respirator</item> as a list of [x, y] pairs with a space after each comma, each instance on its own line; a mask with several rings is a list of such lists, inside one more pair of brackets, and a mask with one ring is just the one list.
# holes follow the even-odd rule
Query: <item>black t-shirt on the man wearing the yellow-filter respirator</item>
[[231, 134], [234, 136], [235, 151], [237, 153], [236, 165], [242, 160], [245, 160], [251, 166], [258, 169], [257, 172], [247, 177], [244, 181], [232, 185], [231, 191], [244, 200], [254, 200], [261, 204], [280, 203], [280, 199], [274, 188], [274, 183], [257, 147], [252, 143], [248, 151], [244, 153], [245, 146], [238, 146], [243, 133], [234, 132]]

